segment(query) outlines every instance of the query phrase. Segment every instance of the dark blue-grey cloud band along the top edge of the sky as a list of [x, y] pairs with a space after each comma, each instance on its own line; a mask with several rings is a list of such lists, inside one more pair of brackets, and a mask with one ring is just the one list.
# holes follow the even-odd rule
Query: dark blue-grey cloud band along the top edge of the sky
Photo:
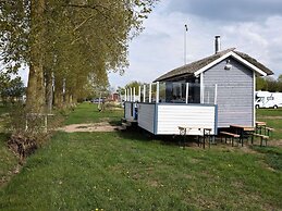
[[209, 21], [249, 22], [282, 14], [280, 0], [174, 0], [170, 1], [168, 12], [197, 15]]

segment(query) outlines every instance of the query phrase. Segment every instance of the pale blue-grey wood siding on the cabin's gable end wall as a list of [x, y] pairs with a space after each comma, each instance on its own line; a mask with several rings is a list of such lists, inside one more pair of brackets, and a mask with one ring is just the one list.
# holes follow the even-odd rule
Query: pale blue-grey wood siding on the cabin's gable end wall
[[[226, 60], [231, 70], [224, 70]], [[204, 73], [204, 85], [218, 84], [218, 127], [231, 124], [254, 125], [253, 71], [228, 58]]]

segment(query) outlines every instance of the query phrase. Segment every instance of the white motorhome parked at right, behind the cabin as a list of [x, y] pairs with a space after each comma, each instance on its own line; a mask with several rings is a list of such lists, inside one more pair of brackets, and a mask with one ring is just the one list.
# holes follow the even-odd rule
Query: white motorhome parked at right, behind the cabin
[[256, 91], [256, 109], [282, 107], [282, 92]]

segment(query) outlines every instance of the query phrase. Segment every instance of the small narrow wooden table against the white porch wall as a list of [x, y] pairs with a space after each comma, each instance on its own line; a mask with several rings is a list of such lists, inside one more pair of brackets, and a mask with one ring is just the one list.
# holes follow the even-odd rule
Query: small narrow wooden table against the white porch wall
[[185, 147], [185, 142], [186, 142], [186, 136], [188, 135], [187, 133], [192, 129], [197, 129], [199, 131], [199, 135], [198, 136], [198, 146], [199, 146], [199, 137], [203, 136], [203, 148], [205, 149], [205, 145], [206, 145], [206, 136], [210, 136], [210, 133], [212, 131], [212, 128], [210, 127], [203, 127], [203, 126], [179, 126], [180, 129], [180, 135], [184, 136], [184, 145], [183, 147]]

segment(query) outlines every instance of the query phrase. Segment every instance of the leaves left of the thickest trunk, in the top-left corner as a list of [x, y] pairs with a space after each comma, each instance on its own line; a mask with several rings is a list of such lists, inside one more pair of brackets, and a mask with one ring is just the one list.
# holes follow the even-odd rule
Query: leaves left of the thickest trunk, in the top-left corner
[[28, 62], [30, 1], [0, 1], [0, 52], [3, 69], [17, 73]]

